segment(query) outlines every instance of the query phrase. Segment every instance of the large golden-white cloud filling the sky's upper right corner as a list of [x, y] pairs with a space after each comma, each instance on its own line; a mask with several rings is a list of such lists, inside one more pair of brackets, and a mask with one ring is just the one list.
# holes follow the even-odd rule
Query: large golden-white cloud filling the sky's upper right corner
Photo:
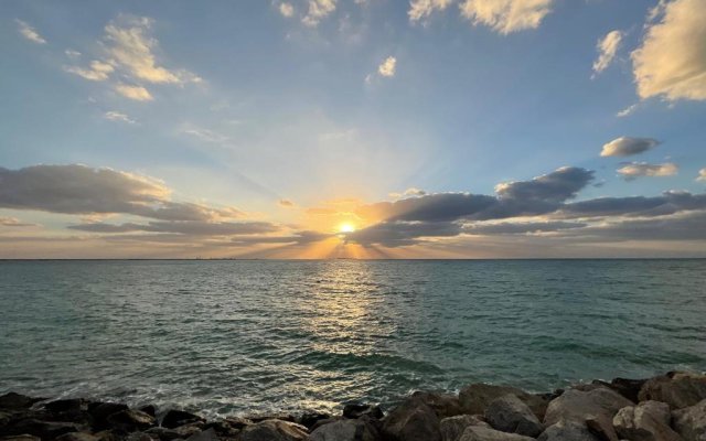
[[704, 0], [661, 2], [651, 12], [642, 45], [632, 53], [641, 98], [706, 99]]

